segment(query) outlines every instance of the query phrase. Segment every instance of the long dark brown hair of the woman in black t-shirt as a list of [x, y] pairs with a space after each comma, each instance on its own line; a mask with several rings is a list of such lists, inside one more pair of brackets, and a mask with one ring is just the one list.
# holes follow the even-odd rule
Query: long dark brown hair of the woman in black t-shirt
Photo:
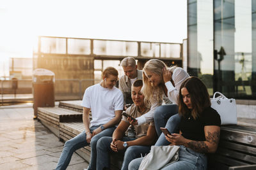
[[[181, 89], [186, 88], [189, 92], [192, 110], [189, 110], [186, 104], [183, 102], [183, 97], [181, 94]], [[191, 115], [194, 119], [198, 118], [200, 113], [204, 111], [205, 108], [211, 106], [210, 96], [205, 87], [204, 83], [197, 77], [191, 76], [187, 78], [179, 90], [179, 113], [183, 117]]]

